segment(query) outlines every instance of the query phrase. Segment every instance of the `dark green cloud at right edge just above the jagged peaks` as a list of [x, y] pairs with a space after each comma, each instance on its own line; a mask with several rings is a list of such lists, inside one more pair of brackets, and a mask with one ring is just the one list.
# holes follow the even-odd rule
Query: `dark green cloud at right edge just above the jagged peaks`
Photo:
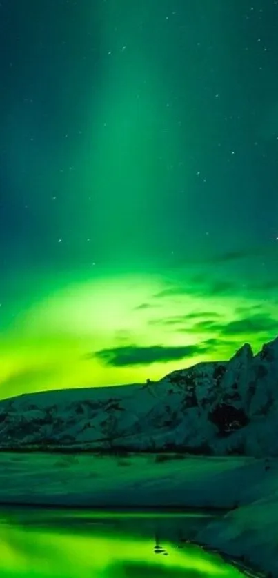
[[264, 333], [274, 330], [278, 332], [278, 321], [268, 315], [258, 314], [250, 315], [250, 317], [245, 317], [244, 319], [230, 321], [230, 323], [222, 328], [222, 335]]

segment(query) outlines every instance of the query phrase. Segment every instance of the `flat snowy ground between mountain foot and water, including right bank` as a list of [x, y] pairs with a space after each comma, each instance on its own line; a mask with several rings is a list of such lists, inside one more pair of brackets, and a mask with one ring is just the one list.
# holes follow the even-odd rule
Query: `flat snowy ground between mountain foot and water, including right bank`
[[0, 455], [2, 504], [226, 508], [197, 541], [278, 576], [278, 461], [161, 455]]

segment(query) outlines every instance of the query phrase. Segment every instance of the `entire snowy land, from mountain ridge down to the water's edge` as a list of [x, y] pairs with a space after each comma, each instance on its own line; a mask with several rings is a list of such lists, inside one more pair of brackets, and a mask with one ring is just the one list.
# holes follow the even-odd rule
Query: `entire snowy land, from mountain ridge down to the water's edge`
[[2, 449], [187, 454], [2, 452], [0, 502], [224, 508], [230, 512], [208, 518], [196, 539], [278, 578], [277, 375], [278, 338], [257, 355], [246, 345], [228, 362], [200, 363], [145, 386], [2, 401]]

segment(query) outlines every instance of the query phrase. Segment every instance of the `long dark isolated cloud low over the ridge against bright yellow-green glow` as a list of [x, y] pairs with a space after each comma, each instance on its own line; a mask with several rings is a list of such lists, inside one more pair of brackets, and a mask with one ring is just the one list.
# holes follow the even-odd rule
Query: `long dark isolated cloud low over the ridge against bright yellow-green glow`
[[160, 363], [184, 359], [200, 355], [206, 349], [205, 345], [190, 345], [181, 347], [163, 347], [163, 346], [126, 346], [112, 349], [103, 349], [87, 357], [97, 357], [109, 366], [141, 366], [150, 365], [151, 363]]

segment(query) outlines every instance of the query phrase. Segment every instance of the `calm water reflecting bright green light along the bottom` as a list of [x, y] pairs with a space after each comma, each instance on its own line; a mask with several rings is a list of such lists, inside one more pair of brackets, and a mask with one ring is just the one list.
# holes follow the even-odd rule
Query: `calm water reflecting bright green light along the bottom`
[[1, 510], [1, 578], [226, 576], [240, 572], [186, 543], [195, 515]]

